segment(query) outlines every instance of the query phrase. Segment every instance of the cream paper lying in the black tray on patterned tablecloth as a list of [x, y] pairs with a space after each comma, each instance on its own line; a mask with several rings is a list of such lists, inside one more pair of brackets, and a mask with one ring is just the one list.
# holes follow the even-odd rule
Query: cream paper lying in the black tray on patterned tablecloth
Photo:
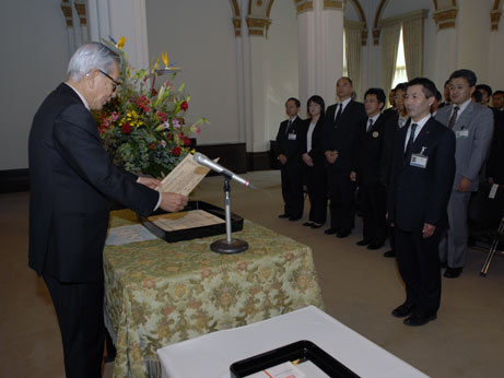
[[167, 232], [224, 223], [224, 220], [210, 214], [204, 210], [191, 210], [181, 211], [179, 213], [153, 215], [149, 216], [148, 220], [154, 223], [157, 227]]

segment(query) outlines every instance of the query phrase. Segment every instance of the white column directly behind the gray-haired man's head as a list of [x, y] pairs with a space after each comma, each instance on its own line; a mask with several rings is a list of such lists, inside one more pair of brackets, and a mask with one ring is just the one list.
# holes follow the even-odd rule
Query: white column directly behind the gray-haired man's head
[[127, 38], [125, 52], [134, 68], [149, 67], [145, 0], [89, 0], [91, 39]]

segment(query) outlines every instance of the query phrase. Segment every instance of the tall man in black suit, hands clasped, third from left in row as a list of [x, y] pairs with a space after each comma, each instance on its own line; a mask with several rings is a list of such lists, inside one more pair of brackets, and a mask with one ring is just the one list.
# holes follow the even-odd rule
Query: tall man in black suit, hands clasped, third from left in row
[[327, 235], [349, 236], [354, 226], [354, 184], [350, 179], [359, 121], [366, 118], [364, 105], [352, 99], [350, 78], [336, 84], [339, 103], [327, 108], [324, 120], [324, 154], [328, 166], [330, 228]]

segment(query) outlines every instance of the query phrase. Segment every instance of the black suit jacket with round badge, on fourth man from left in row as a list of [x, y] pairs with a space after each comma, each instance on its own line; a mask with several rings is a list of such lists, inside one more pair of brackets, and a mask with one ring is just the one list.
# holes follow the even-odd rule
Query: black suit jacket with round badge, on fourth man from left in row
[[354, 157], [354, 172], [359, 185], [384, 182], [382, 158], [384, 155], [386, 119], [380, 115], [366, 131], [368, 119], [358, 123], [358, 143]]

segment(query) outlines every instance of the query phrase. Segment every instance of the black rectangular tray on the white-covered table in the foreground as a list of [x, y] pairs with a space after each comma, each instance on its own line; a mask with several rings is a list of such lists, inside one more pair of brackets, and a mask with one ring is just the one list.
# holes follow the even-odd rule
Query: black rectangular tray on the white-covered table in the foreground
[[301, 340], [279, 349], [238, 361], [230, 366], [231, 378], [243, 378], [289, 361], [309, 359], [329, 377], [360, 378], [338, 359], [308, 340]]

